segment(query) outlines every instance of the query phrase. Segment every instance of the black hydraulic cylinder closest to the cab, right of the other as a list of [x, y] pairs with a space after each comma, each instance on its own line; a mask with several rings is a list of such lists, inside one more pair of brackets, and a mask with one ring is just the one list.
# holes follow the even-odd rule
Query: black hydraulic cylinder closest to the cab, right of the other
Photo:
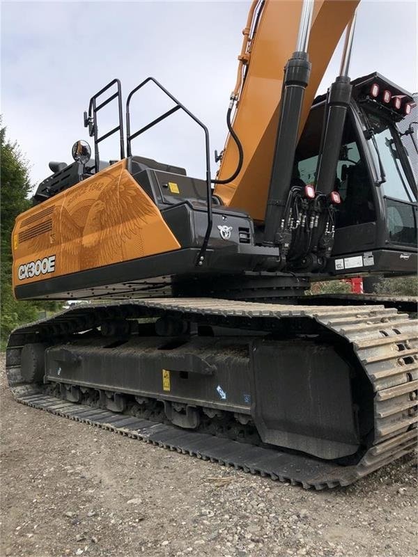
[[339, 161], [344, 123], [350, 106], [352, 86], [350, 78], [339, 76], [328, 92], [327, 120], [322, 141], [322, 152], [316, 169], [316, 191], [328, 195], [333, 191], [336, 166]]

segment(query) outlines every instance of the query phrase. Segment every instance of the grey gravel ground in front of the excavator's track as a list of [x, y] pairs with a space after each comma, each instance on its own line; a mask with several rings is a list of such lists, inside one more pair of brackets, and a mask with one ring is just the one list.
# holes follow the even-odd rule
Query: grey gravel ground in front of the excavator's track
[[324, 492], [17, 404], [1, 357], [1, 557], [417, 555], [412, 457]]

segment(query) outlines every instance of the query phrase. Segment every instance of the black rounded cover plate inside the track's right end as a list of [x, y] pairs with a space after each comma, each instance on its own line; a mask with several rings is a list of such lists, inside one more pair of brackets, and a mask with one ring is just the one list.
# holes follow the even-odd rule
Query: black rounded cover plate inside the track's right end
[[352, 373], [332, 345], [254, 340], [251, 414], [261, 439], [327, 460], [356, 453]]

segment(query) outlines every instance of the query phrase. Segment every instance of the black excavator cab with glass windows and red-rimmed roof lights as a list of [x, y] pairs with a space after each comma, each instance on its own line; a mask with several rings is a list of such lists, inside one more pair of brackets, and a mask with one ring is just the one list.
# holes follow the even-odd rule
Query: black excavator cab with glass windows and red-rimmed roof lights
[[[335, 237], [327, 271], [412, 272], [417, 253], [417, 187], [396, 123], [412, 97], [378, 73], [353, 81], [336, 166]], [[398, 108], [396, 108], [398, 107]], [[317, 97], [295, 162], [306, 185], [314, 182], [325, 95]]]

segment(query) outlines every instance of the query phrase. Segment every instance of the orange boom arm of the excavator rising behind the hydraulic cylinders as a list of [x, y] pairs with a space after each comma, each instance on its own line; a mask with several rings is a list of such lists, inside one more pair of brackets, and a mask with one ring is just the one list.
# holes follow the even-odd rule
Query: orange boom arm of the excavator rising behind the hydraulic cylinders
[[[312, 70], [304, 96], [301, 132], [334, 49], [358, 3], [315, 0], [308, 47]], [[244, 163], [233, 182], [215, 188], [226, 205], [246, 210], [257, 221], [264, 219], [284, 66], [295, 50], [301, 9], [302, 0], [265, 1], [233, 123], [244, 149]], [[237, 163], [238, 150], [229, 137], [217, 178], [227, 178]]]

